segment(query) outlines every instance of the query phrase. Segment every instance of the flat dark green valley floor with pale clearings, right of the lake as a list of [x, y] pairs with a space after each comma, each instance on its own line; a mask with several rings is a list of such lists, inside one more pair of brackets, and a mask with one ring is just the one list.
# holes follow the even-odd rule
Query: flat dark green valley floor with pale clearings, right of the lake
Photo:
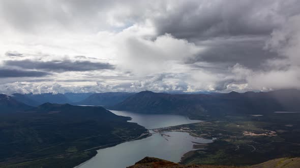
[[204, 150], [187, 153], [182, 160], [184, 164], [252, 165], [300, 156], [299, 120], [300, 114], [291, 113], [226, 116], [160, 131], [178, 130], [193, 136], [217, 138]]

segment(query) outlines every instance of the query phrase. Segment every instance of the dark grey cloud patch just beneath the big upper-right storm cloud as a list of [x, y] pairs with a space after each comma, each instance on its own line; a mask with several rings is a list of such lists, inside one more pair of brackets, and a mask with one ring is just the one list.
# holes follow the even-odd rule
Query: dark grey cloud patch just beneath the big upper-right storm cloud
[[196, 57], [188, 59], [186, 63], [208, 62], [227, 67], [239, 63], [252, 69], [264, 68], [261, 67], [261, 63], [278, 57], [276, 53], [264, 50], [264, 44], [265, 38], [262, 37], [204, 41], [199, 45], [207, 49]]

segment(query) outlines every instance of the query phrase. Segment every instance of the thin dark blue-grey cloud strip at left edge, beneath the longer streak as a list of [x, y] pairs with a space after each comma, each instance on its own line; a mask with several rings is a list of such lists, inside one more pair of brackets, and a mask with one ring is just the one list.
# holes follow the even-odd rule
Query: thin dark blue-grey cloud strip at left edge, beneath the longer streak
[[50, 73], [42, 71], [26, 71], [17, 69], [0, 69], [0, 77], [41, 77]]

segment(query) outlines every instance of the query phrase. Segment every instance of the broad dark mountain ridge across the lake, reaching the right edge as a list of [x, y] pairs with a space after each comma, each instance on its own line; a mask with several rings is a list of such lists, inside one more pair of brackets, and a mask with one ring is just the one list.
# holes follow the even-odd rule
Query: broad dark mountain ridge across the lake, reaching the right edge
[[267, 114], [300, 111], [299, 90], [171, 95], [144, 91], [109, 107], [139, 113], [173, 113], [199, 117], [226, 114]]

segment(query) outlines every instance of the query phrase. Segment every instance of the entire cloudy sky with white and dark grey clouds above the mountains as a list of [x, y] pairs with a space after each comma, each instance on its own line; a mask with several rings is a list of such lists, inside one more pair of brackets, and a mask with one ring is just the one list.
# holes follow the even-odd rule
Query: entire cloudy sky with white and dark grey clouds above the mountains
[[297, 0], [2, 0], [0, 93], [300, 89]]

